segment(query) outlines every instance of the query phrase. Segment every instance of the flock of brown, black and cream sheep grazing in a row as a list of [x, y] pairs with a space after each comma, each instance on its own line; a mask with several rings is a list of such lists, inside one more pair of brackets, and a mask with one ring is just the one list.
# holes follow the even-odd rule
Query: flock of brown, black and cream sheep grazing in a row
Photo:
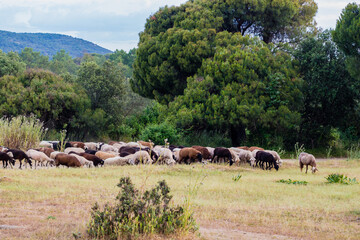
[[[56, 141], [42, 141], [37, 149], [29, 149], [23, 152], [19, 149], [8, 149], [0, 147], [0, 160], [3, 167], [12, 167], [15, 160], [22, 160], [35, 168], [41, 166], [67, 166], [67, 167], [97, 167], [102, 165], [136, 165], [136, 164], [191, 164], [194, 162], [212, 162], [246, 164], [252, 167], [271, 170], [279, 169], [282, 160], [276, 151], [264, 150], [260, 147], [231, 147], [211, 148], [202, 146], [154, 146], [152, 142], [67, 142], [64, 151], [60, 152], [60, 144]], [[308, 153], [301, 153], [299, 156], [300, 169], [308, 165], [312, 172], [317, 171], [315, 157]]]

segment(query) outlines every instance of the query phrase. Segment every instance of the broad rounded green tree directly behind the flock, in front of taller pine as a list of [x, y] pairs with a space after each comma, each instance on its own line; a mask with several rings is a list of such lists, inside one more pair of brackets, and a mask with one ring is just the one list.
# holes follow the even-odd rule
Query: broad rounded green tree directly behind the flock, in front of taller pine
[[282, 144], [275, 137], [296, 131], [302, 106], [291, 56], [240, 33], [220, 33], [215, 44], [214, 57], [170, 103], [170, 120], [185, 130], [226, 132], [234, 146], [247, 134], [250, 142]]

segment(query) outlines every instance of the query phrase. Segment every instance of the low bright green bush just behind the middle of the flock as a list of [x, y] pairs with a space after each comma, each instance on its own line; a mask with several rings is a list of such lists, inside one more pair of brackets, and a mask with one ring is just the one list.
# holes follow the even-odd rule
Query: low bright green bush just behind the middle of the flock
[[160, 124], [150, 124], [144, 128], [140, 135], [140, 139], [148, 141], [149, 139], [157, 145], [164, 145], [164, 140], [167, 139], [170, 144], [176, 143], [181, 137], [181, 134], [167, 122]]

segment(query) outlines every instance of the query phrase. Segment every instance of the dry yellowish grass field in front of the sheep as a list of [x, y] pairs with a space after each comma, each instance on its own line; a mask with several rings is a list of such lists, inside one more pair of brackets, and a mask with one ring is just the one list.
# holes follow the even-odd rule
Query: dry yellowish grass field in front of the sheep
[[[297, 161], [285, 161], [278, 172], [213, 164], [1, 168], [0, 225], [19, 228], [0, 228], [0, 239], [87, 239], [90, 208], [113, 201], [123, 176], [141, 189], [165, 179], [174, 204], [191, 195], [199, 232], [172, 239], [360, 239], [360, 184], [325, 179], [342, 173], [359, 180], [360, 161], [320, 161], [318, 169], [301, 173]], [[308, 185], [276, 182], [289, 178]]]

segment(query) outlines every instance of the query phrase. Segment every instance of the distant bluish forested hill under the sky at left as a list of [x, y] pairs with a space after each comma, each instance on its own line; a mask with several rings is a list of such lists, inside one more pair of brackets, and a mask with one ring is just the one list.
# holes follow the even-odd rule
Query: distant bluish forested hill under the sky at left
[[50, 58], [61, 49], [64, 49], [72, 57], [81, 57], [85, 53], [106, 54], [112, 52], [92, 42], [62, 34], [14, 33], [0, 30], [0, 49], [3, 52], [20, 52], [26, 47]]

